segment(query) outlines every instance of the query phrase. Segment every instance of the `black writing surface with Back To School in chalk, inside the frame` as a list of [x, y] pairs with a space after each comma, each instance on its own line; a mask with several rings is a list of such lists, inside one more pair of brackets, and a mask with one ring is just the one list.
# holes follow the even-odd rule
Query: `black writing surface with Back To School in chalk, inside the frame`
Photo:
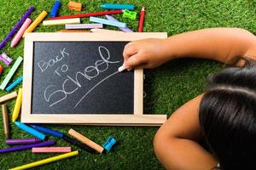
[[33, 42], [32, 114], [133, 114], [127, 42]]

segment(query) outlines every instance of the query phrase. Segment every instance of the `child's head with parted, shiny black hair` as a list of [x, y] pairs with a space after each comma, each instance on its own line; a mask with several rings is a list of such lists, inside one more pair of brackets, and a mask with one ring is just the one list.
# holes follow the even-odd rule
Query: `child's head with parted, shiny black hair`
[[209, 77], [199, 119], [220, 168], [256, 163], [256, 68], [228, 68]]

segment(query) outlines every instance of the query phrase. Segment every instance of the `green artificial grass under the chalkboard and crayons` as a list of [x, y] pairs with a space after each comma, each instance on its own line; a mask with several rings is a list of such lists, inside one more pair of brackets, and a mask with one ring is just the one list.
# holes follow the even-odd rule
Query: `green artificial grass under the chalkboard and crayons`
[[[183, 31], [193, 31], [207, 27], [232, 26], [242, 27], [249, 31], [256, 28], [255, 1], [232, 1], [232, 0], [129, 0], [129, 1], [79, 1], [84, 4], [83, 13], [101, 11], [101, 3], [133, 3], [139, 12], [144, 5], [146, 8], [146, 20], [144, 31], [167, 31], [169, 36]], [[0, 40], [9, 33], [26, 9], [34, 6], [36, 11], [32, 13], [34, 20], [42, 10], [50, 11], [54, 1], [21, 1], [2, 0], [0, 5]], [[68, 1], [61, 1], [61, 14], [79, 14], [67, 8]], [[137, 30], [137, 21], [123, 19], [121, 14], [116, 14], [119, 20]], [[89, 23], [89, 19], [83, 19], [83, 23]], [[108, 29], [117, 30], [114, 27]], [[44, 27], [42, 24], [35, 30], [37, 32], [54, 32], [63, 29], [63, 26]], [[10, 41], [0, 52], [9, 54], [14, 59], [23, 56], [24, 40], [16, 48], [9, 48]], [[1, 65], [4, 65], [1, 62]], [[217, 72], [224, 67], [217, 62], [203, 59], [177, 59], [162, 65], [154, 70], [146, 70], [144, 99], [144, 112], [155, 114], [170, 114], [184, 102], [201, 94], [204, 88], [204, 80], [208, 74]], [[0, 81], [9, 72], [10, 67], [4, 65], [4, 72]], [[13, 77], [13, 82], [22, 75], [22, 65]], [[21, 86], [15, 88], [18, 90]], [[1, 91], [0, 95], [6, 94]], [[15, 105], [15, 100], [8, 102], [9, 118]], [[2, 122], [2, 116], [0, 116]], [[3, 126], [0, 131], [3, 131]], [[119, 140], [119, 145], [107, 155], [91, 155], [83, 150], [79, 156], [71, 159], [56, 161], [35, 169], [162, 169], [159, 161], [154, 156], [152, 141], [158, 127], [96, 127], [96, 126], [60, 126], [49, 125], [48, 127], [67, 133], [70, 127], [88, 136], [96, 143], [102, 144], [109, 135]], [[22, 132], [11, 123], [12, 138], [28, 138], [29, 134]], [[54, 139], [58, 145], [67, 146], [66, 142]], [[3, 133], [0, 134], [0, 147], [4, 144]], [[73, 147], [73, 150], [79, 148]], [[31, 150], [7, 153], [0, 155], [0, 169], [8, 169], [38, 161], [56, 154], [35, 155]]]

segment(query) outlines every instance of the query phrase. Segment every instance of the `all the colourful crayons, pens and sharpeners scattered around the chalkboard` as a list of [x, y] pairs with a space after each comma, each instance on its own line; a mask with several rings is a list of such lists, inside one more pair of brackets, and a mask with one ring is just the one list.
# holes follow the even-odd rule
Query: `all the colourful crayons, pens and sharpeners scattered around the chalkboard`
[[[67, 8], [70, 8], [72, 10], [81, 11], [83, 10], [83, 4], [82, 3], [76, 3], [73, 1], [70, 1], [68, 3]], [[73, 15], [63, 15], [63, 16], [57, 16], [58, 10], [61, 8], [61, 2], [59, 0], [56, 0], [53, 8], [51, 9], [51, 12], [49, 14], [50, 18], [49, 20], [44, 20], [48, 13], [46, 11], [43, 11], [41, 14], [38, 15], [38, 17], [35, 20], [29, 19], [29, 15], [32, 14], [32, 12], [35, 10], [34, 7], [29, 8], [26, 13], [21, 17], [21, 19], [18, 21], [18, 23], [14, 26], [14, 28], [9, 32], [9, 34], [3, 39], [3, 41], [0, 43], [0, 49], [5, 46], [5, 44], [13, 37], [13, 40], [11, 42], [11, 48], [15, 48], [15, 46], [20, 42], [20, 39], [22, 37], [25, 37], [26, 33], [32, 32], [43, 20], [43, 26], [60, 26], [64, 25], [65, 30], [61, 30], [61, 32], [133, 32], [126, 23], [121, 22], [113, 17], [111, 14], [123, 14], [124, 18], [129, 18], [131, 20], [136, 20], [137, 18], [137, 12], [134, 10], [134, 5], [132, 4], [115, 4], [115, 3], [105, 3], [100, 5], [100, 8], [103, 9], [110, 9], [105, 10], [102, 12], [95, 12], [95, 13], [86, 13], [86, 14], [73, 14]], [[98, 16], [105, 16], [104, 18], [99, 18]], [[90, 24], [82, 24], [80, 18], [84, 17], [90, 17]], [[143, 21], [145, 17], [145, 9], [142, 8], [139, 21], [138, 21], [138, 32], [143, 31]], [[111, 31], [111, 30], [105, 30], [102, 29], [103, 26], [116, 26], [119, 28], [120, 31]], [[86, 30], [90, 29], [90, 30]], [[16, 34], [15, 34], [16, 33]], [[8, 54], [5, 54], [4, 52], [0, 54], [0, 60], [3, 61], [5, 65], [11, 65], [13, 59], [11, 59]], [[6, 92], [11, 92], [13, 88], [15, 88], [20, 82], [22, 82], [23, 77], [19, 77], [14, 82], [9, 84], [9, 81], [11, 78], [15, 75], [15, 71], [19, 68], [19, 65], [22, 62], [22, 58], [19, 57], [15, 60], [15, 63], [12, 65], [9, 73], [6, 77], [4, 77], [3, 82], [0, 85], [0, 88], [2, 90], [5, 90]], [[0, 75], [3, 72], [3, 66], [0, 65]], [[9, 86], [8, 86], [9, 85]], [[11, 139], [10, 133], [9, 133], [9, 114], [8, 114], [8, 108], [6, 105], [6, 102], [10, 99], [15, 99], [15, 108], [12, 113], [12, 122], [15, 123], [16, 127], [19, 127], [26, 133], [32, 134], [35, 139]], [[50, 136], [54, 136], [57, 139], [63, 139], [67, 141], [67, 143], [76, 145], [80, 149], [85, 150], [90, 153], [103, 153], [108, 152], [111, 150], [113, 145], [117, 144], [117, 140], [113, 137], [108, 137], [107, 141], [100, 145], [96, 144], [92, 140], [86, 138], [81, 133], [70, 129], [68, 134], [70, 136], [73, 136], [73, 138], [67, 136], [67, 134], [49, 129], [48, 127], [42, 127], [39, 125], [26, 125], [22, 122], [17, 122], [17, 119], [19, 118], [20, 114], [20, 107], [22, 102], [22, 88], [19, 89], [19, 92], [12, 92], [9, 94], [6, 94], [4, 96], [0, 97], [0, 104], [2, 105], [2, 113], [3, 113], [3, 133], [6, 137], [6, 144], [9, 145], [18, 145], [14, 147], [9, 147], [6, 149], [0, 149], [0, 154], [7, 153], [7, 152], [13, 152], [18, 150], [28, 150], [31, 149], [32, 153], [51, 153], [51, 152], [60, 152], [65, 154], [62, 154], [60, 156], [54, 156], [50, 157], [48, 159], [44, 159], [41, 161], [32, 162], [30, 164], [26, 164], [20, 167], [15, 167], [12, 169], [26, 169], [30, 167], [36, 167], [39, 165], [43, 165], [45, 163], [49, 163], [52, 161], [58, 161], [67, 157], [71, 156], [77, 156], [79, 154], [78, 150], [72, 151], [72, 148], [70, 146], [67, 147], [53, 147], [51, 145], [55, 144], [55, 141], [47, 141], [46, 134]], [[51, 147], [49, 147], [51, 146]]]

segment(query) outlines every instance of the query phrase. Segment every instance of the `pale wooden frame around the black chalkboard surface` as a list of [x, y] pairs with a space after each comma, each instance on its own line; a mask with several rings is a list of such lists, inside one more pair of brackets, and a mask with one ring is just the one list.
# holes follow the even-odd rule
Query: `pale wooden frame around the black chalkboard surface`
[[32, 114], [33, 42], [104, 42], [166, 38], [165, 32], [120, 33], [30, 33], [25, 37], [21, 122], [116, 126], [160, 126], [166, 115], [143, 115], [143, 69], [134, 71], [134, 113], [120, 114]]

